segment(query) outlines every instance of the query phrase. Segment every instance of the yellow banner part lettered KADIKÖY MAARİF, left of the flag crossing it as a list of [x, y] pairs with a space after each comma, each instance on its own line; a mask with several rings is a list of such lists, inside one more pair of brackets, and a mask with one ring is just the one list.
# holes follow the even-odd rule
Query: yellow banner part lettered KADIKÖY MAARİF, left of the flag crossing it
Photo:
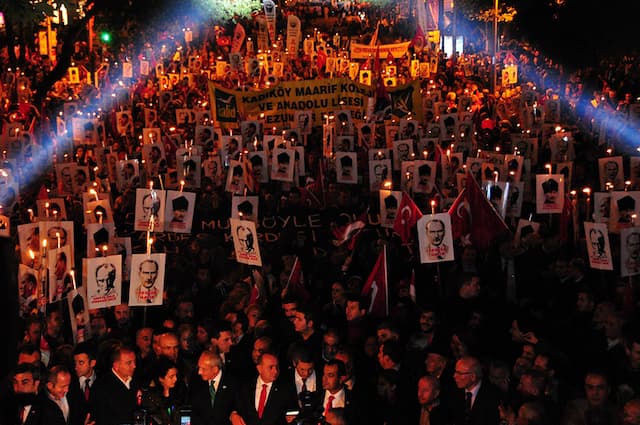
[[237, 128], [238, 121], [255, 117], [264, 119], [265, 128], [282, 130], [295, 125], [296, 111], [313, 111], [314, 125], [338, 110], [350, 110], [354, 119], [362, 119], [373, 89], [348, 78], [285, 81], [253, 92], [229, 90], [210, 81], [209, 97], [221, 127]]

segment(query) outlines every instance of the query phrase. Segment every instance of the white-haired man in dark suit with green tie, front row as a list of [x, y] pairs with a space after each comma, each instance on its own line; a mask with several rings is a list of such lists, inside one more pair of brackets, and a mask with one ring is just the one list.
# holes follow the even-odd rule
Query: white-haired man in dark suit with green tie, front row
[[222, 359], [212, 351], [203, 351], [198, 360], [198, 375], [191, 385], [191, 423], [229, 424], [229, 414], [235, 403], [237, 381], [227, 371]]

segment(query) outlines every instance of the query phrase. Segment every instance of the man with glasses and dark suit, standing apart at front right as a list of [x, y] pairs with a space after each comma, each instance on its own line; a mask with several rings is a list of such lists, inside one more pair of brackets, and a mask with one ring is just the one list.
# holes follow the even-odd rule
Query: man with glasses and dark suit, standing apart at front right
[[448, 403], [455, 425], [495, 425], [499, 422], [498, 390], [482, 377], [482, 364], [475, 357], [462, 357], [456, 362], [453, 378], [458, 390]]

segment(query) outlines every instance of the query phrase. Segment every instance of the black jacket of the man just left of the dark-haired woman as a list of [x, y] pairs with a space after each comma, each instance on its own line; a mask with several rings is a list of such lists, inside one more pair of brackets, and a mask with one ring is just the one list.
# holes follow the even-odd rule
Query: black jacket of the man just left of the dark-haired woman
[[96, 425], [132, 423], [133, 413], [138, 408], [138, 391], [135, 380], [127, 389], [113, 371], [100, 376], [91, 387], [89, 410], [92, 420]]

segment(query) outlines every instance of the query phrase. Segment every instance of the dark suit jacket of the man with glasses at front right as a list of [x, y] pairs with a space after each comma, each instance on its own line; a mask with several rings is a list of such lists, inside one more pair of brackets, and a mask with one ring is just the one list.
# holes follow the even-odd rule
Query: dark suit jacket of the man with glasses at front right
[[496, 387], [483, 380], [468, 417], [465, 414], [465, 391], [453, 394], [451, 408], [455, 425], [495, 425], [500, 421], [498, 405], [500, 393]]

